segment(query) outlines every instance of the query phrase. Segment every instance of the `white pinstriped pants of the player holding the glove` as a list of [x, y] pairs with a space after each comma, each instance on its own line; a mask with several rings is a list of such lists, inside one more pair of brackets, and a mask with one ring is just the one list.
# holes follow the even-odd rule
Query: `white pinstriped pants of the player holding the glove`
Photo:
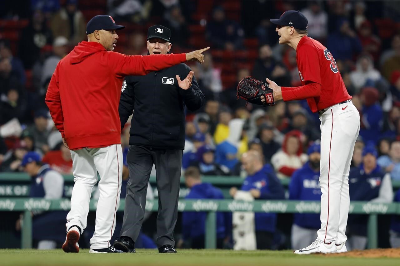
[[347, 240], [346, 226], [350, 207], [349, 172], [354, 144], [360, 132], [360, 113], [351, 103], [329, 107], [321, 121], [321, 229], [323, 243]]

